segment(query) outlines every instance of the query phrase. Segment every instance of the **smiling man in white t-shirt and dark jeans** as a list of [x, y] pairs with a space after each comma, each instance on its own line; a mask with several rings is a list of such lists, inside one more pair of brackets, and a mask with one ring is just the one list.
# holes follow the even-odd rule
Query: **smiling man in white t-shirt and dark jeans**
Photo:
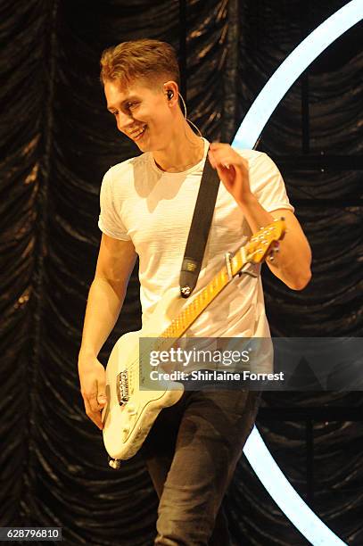
[[[142, 155], [109, 170], [101, 189], [103, 231], [85, 318], [78, 369], [87, 416], [103, 428], [105, 374], [97, 355], [111, 332], [139, 256], [143, 323], [170, 286], [178, 285], [194, 204], [208, 153], [222, 184], [197, 294], [253, 232], [285, 217], [287, 235], [268, 267], [295, 290], [310, 278], [309, 244], [285, 185], [264, 153], [210, 144], [189, 127], [178, 103], [173, 48], [154, 40], [125, 42], [103, 53], [107, 108]], [[268, 336], [260, 277], [235, 277], [188, 330], [192, 336]], [[259, 394], [184, 393], [162, 409], [141, 452], [160, 497], [155, 544], [228, 544], [221, 508]]]

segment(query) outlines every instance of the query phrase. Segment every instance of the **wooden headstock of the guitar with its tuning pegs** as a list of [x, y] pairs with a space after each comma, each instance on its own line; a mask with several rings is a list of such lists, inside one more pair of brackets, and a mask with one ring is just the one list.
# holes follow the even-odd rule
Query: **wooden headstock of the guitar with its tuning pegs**
[[286, 223], [284, 218], [276, 219], [268, 226], [261, 227], [244, 246], [245, 261], [260, 263], [264, 261], [271, 247], [284, 238]]

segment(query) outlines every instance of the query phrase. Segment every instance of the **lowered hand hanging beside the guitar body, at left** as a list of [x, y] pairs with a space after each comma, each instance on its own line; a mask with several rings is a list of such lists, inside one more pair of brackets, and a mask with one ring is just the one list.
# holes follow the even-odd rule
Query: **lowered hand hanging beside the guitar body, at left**
[[102, 430], [101, 410], [107, 401], [105, 369], [95, 357], [79, 355], [78, 375], [87, 417]]

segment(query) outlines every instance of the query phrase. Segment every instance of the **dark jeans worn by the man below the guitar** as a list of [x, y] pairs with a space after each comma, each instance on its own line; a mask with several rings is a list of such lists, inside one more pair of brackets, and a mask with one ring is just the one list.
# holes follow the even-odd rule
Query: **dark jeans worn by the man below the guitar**
[[252, 430], [260, 393], [186, 392], [161, 410], [141, 454], [159, 495], [159, 546], [228, 546], [221, 502]]

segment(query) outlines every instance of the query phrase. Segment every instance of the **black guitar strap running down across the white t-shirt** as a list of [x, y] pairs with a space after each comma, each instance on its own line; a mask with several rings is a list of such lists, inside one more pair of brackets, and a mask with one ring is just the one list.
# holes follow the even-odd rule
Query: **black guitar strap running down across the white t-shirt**
[[210, 165], [207, 154], [180, 271], [180, 294], [184, 298], [188, 298], [192, 294], [201, 271], [218, 190], [219, 176]]

